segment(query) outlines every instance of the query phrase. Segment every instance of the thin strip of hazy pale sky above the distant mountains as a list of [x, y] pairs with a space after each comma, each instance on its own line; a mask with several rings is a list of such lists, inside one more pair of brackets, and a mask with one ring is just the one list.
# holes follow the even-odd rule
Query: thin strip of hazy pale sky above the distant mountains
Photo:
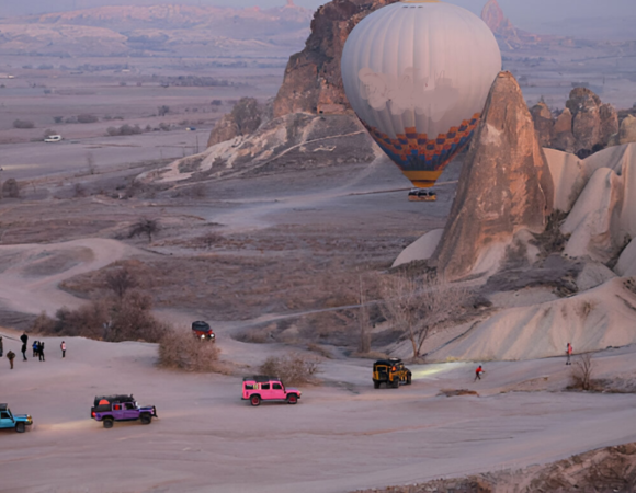
[[[476, 13], [486, 0], [446, 0]], [[270, 8], [284, 5], [286, 0], [0, 0], [0, 15], [41, 13], [103, 4], [189, 3], [201, 5], [227, 5]], [[316, 9], [325, 0], [295, 0], [297, 5]], [[568, 19], [625, 18], [636, 15], [636, 0], [499, 0], [506, 14], [520, 27], [533, 27], [544, 23]], [[635, 28], [636, 32], [636, 28]], [[636, 34], [635, 36], [636, 37]]]

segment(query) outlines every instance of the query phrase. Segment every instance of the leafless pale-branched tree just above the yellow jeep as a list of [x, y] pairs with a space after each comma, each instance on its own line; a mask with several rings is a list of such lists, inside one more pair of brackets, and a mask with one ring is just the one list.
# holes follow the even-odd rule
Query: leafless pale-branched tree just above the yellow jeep
[[385, 318], [411, 342], [413, 357], [420, 356], [431, 329], [457, 314], [467, 295], [433, 274], [385, 277], [381, 293]]

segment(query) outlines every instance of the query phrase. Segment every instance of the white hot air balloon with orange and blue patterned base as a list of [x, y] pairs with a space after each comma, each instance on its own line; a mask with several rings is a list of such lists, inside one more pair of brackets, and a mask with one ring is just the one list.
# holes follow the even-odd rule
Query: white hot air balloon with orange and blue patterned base
[[438, 0], [401, 0], [360, 22], [342, 82], [373, 139], [414, 186], [433, 186], [470, 140], [501, 70], [492, 32]]

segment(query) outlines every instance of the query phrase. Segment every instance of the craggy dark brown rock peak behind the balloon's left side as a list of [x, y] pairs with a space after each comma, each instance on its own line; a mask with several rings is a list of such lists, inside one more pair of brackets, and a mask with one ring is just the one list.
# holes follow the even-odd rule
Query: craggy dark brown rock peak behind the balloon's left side
[[349, 108], [340, 59], [349, 33], [371, 12], [398, 0], [333, 0], [318, 9], [305, 49], [289, 58], [274, 116], [342, 113]]

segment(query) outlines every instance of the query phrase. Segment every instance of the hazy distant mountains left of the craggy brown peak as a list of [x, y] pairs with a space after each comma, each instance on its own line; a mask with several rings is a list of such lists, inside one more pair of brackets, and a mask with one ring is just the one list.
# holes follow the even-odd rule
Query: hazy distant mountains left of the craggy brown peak
[[0, 54], [245, 56], [299, 49], [313, 12], [160, 4], [101, 7], [0, 21]]

